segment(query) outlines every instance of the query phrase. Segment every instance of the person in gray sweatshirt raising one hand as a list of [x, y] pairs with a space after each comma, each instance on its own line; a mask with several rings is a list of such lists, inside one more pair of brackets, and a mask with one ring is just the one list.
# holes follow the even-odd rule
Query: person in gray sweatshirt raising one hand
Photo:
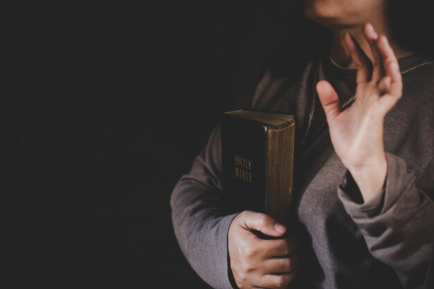
[[295, 116], [296, 226], [225, 213], [219, 126], [175, 186], [175, 235], [210, 286], [434, 288], [434, 64], [395, 41], [388, 5], [305, 0], [323, 45], [284, 47], [238, 103]]

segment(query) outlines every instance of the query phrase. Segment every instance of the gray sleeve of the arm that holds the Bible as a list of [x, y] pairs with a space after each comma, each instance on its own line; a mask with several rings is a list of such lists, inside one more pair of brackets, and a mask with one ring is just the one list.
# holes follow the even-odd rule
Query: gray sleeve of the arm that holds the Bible
[[175, 236], [193, 270], [213, 288], [233, 288], [229, 281], [227, 231], [221, 184], [220, 126], [181, 177], [171, 195]]

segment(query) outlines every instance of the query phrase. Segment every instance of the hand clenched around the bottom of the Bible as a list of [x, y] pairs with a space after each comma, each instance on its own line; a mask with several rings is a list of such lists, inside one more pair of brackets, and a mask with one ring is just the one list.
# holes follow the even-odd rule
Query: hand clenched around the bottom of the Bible
[[[255, 232], [273, 239], [263, 239]], [[297, 275], [298, 243], [284, 236], [286, 228], [270, 216], [253, 211], [239, 213], [229, 227], [227, 247], [238, 288], [286, 288]]]

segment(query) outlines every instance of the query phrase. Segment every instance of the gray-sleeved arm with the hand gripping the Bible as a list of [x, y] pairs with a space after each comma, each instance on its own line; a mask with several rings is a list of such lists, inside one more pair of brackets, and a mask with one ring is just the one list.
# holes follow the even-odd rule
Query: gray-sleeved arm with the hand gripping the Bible
[[[214, 288], [286, 288], [298, 272], [297, 236], [284, 236], [286, 228], [264, 213], [225, 216], [220, 151], [217, 127], [173, 191], [173, 226], [182, 252]], [[258, 231], [274, 238], [260, 238]]]

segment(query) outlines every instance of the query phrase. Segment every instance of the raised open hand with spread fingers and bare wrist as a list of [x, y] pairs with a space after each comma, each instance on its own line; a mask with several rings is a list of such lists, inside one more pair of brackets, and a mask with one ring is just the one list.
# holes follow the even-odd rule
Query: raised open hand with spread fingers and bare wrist
[[[374, 63], [370, 63], [356, 40], [345, 34], [345, 45], [357, 68], [356, 99], [342, 110], [338, 95], [327, 81], [317, 84], [318, 96], [327, 116], [331, 142], [338, 157], [354, 177], [366, 201], [379, 193], [385, 182], [387, 159], [383, 146], [385, 115], [402, 95], [402, 79], [387, 38], [372, 25], [363, 26]], [[373, 67], [373, 68], [371, 68]]]

